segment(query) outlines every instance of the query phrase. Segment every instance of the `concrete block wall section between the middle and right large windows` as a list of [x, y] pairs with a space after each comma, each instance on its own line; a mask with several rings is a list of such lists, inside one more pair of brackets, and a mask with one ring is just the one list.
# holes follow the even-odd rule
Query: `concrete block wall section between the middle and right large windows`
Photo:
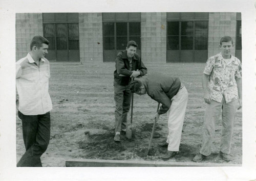
[[166, 63], [166, 13], [141, 13], [141, 59]]

